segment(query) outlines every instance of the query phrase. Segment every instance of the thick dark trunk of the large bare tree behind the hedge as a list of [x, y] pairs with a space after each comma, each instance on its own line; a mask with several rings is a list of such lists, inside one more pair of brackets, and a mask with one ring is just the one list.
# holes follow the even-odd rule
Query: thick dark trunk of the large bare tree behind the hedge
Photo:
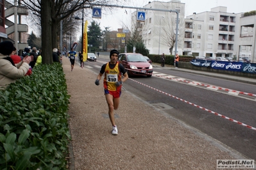
[[51, 0], [41, 1], [41, 26], [42, 26], [42, 63], [53, 63], [52, 35], [51, 35]]

